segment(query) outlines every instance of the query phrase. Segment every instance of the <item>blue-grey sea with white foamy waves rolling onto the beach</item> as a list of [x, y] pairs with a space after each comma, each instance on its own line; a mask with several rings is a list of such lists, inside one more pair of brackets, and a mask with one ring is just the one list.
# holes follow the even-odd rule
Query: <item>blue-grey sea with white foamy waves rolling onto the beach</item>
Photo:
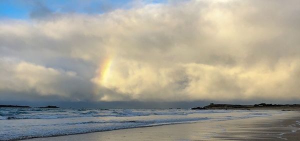
[[272, 116], [278, 110], [0, 108], [0, 140]]

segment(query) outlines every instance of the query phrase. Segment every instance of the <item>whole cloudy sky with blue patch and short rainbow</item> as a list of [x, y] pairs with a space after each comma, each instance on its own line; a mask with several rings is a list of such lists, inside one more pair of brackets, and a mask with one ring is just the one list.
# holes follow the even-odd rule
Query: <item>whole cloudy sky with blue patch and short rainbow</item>
[[1, 0], [0, 103], [296, 103], [299, 12], [299, 0]]

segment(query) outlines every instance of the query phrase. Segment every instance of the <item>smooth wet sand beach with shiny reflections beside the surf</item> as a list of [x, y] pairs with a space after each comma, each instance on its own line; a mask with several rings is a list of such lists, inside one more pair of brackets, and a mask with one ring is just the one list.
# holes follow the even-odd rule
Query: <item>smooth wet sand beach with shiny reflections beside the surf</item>
[[300, 112], [231, 120], [199, 121], [28, 140], [299, 140]]

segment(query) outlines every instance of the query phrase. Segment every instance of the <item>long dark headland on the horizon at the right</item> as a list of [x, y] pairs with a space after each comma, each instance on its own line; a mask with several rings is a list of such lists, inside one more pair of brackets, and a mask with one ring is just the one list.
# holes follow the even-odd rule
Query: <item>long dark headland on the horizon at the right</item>
[[254, 105], [239, 105], [239, 104], [214, 104], [203, 107], [193, 107], [191, 109], [300, 109], [300, 104], [254, 104]]

